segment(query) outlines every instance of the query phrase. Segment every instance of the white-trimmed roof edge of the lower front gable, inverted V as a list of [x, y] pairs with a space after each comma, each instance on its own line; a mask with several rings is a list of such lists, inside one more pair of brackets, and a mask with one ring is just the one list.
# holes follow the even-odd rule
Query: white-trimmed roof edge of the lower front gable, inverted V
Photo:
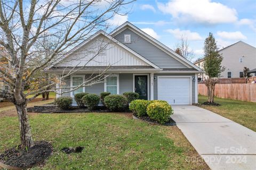
[[103, 30], [99, 30], [98, 32], [94, 33], [94, 35], [92, 35], [91, 37], [89, 37], [87, 40], [85, 40], [84, 42], [82, 42], [81, 44], [79, 44], [78, 46], [74, 47], [73, 49], [71, 49], [68, 54], [63, 55], [61, 57], [61, 59], [57, 62], [55, 62], [54, 64], [52, 64], [50, 67], [48, 67], [47, 69], [50, 69], [51, 67], [54, 67], [55, 64], [58, 64], [59, 62], [63, 61], [65, 58], [67, 58], [68, 56], [70, 56], [71, 54], [73, 54], [74, 52], [76, 52], [76, 50], [78, 50], [79, 48], [83, 47], [84, 45], [88, 44], [91, 42], [92, 39], [94, 39], [95, 37], [98, 37], [99, 35], [103, 35], [105, 37], [107, 37], [108, 39], [110, 39], [111, 41], [113, 41], [115, 44], [121, 46], [122, 48], [126, 49], [128, 52], [130, 52], [131, 54], [135, 55], [136, 57], [140, 58], [140, 60], [142, 60], [143, 62], [149, 64], [150, 66], [154, 67], [155, 69], [160, 69], [157, 65], [155, 65], [154, 63], [148, 61], [145, 57], [141, 56], [140, 54], [134, 52], [132, 49], [130, 49], [129, 47], [125, 46], [124, 44], [120, 43], [118, 40], [116, 40], [115, 38], [111, 37], [108, 33], [106, 33]]

